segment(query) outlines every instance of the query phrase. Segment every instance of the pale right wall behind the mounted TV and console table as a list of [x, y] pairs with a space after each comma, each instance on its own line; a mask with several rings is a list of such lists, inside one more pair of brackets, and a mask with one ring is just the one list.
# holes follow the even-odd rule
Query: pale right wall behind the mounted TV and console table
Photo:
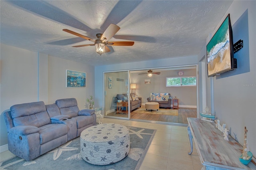
[[[234, 58], [238, 62], [236, 70], [206, 80], [207, 105], [214, 104], [213, 110], [216, 117], [220, 119], [220, 124], [226, 123], [227, 128], [231, 130], [231, 136], [242, 145], [244, 143], [244, 127], [248, 129], [249, 149], [255, 155], [256, 1], [234, 1], [216, 29], [228, 14], [230, 14], [234, 43], [241, 39], [244, 41], [244, 47], [234, 54]], [[205, 51], [205, 49], [202, 50]], [[199, 60], [204, 55], [206, 56], [206, 53], [200, 54]]]

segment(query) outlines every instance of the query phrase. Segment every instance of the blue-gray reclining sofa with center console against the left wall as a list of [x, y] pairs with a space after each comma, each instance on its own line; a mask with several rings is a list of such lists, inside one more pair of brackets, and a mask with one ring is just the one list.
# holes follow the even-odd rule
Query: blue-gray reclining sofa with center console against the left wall
[[92, 109], [79, 110], [75, 98], [13, 105], [4, 113], [8, 149], [27, 161], [80, 136], [82, 130], [96, 125]]

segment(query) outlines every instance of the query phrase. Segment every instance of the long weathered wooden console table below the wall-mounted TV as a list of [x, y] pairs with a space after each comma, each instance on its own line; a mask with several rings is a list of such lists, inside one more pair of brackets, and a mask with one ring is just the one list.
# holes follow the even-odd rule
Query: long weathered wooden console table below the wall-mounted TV
[[222, 132], [215, 127], [215, 123], [196, 118], [187, 118], [188, 136], [190, 139], [191, 151], [193, 143], [196, 145], [201, 163], [206, 170], [255, 170], [255, 158], [246, 166], [239, 161], [243, 147], [231, 136], [225, 140]]

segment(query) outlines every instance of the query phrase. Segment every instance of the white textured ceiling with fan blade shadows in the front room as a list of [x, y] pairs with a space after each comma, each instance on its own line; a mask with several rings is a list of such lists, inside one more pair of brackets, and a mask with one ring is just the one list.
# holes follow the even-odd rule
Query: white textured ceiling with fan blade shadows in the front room
[[[90, 65], [108, 65], [198, 55], [208, 34], [232, 1], [0, 1], [0, 42]], [[133, 46], [108, 46], [101, 56], [88, 40], [110, 24], [121, 29], [110, 41]]]

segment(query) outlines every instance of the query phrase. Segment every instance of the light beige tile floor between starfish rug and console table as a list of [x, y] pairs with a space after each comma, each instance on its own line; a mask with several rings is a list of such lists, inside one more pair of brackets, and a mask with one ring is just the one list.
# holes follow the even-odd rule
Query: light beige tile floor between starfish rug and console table
[[[190, 142], [187, 127], [110, 118], [102, 118], [101, 122], [157, 129], [140, 170], [201, 170], [202, 168], [196, 148], [192, 155], [188, 155]], [[13, 156], [9, 151], [5, 151], [0, 154], [0, 160]]]

